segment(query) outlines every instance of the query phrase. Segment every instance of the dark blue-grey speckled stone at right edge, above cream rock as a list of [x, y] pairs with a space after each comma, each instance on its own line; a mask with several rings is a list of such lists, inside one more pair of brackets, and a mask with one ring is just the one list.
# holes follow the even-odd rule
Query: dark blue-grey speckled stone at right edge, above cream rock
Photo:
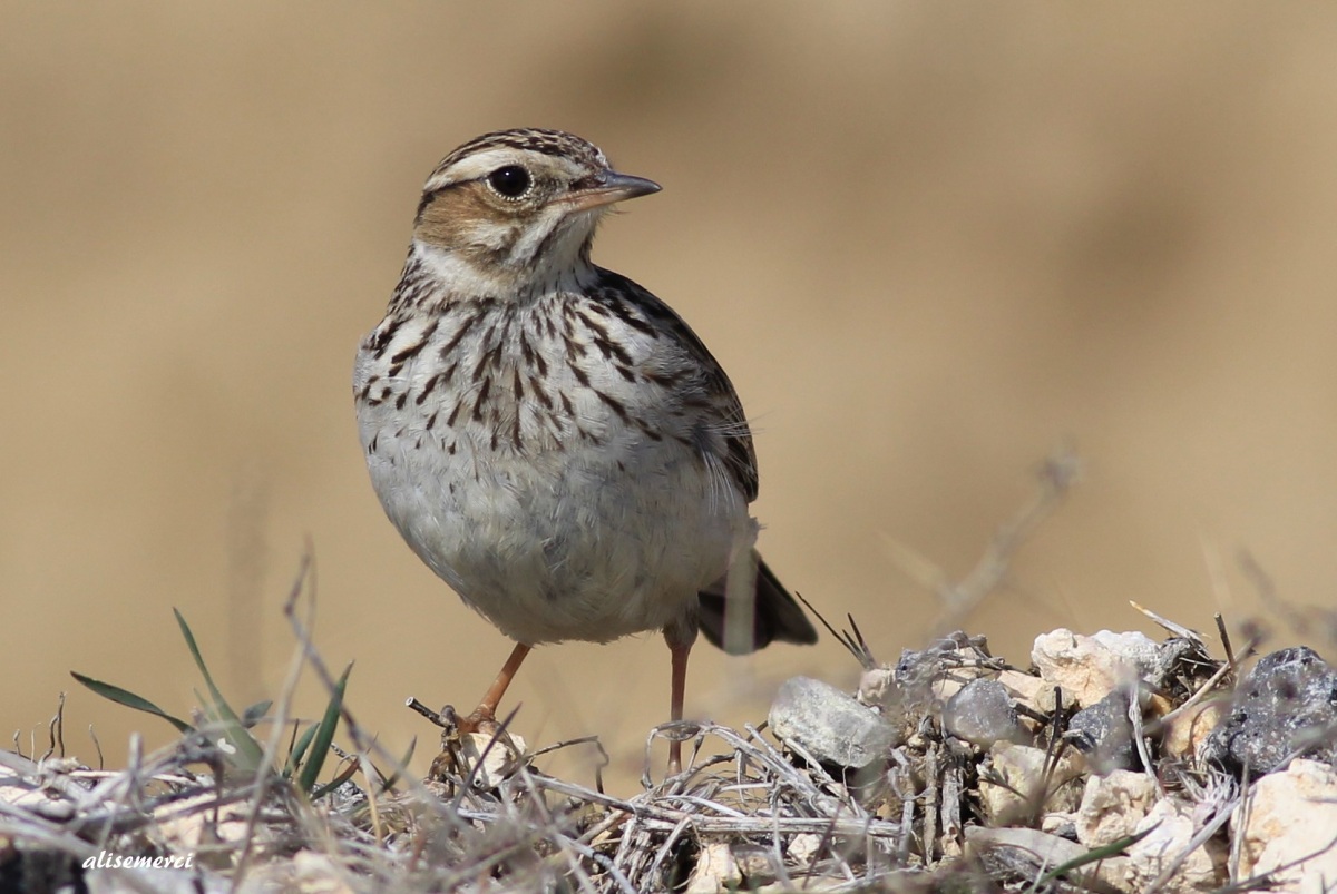
[[1333, 763], [1337, 742], [1337, 671], [1305, 645], [1258, 659], [1235, 688], [1230, 715], [1203, 747], [1203, 758], [1237, 778], [1280, 768], [1293, 756]]

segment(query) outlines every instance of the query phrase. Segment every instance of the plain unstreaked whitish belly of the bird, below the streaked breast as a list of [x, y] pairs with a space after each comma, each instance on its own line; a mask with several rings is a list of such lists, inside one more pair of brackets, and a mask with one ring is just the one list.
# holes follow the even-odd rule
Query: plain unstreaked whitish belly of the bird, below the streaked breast
[[[376, 434], [368, 422], [364, 444]], [[521, 643], [607, 641], [681, 621], [755, 537], [743, 500], [677, 441], [624, 432], [519, 457], [469, 438], [447, 454], [378, 432], [368, 465], [386, 514]]]

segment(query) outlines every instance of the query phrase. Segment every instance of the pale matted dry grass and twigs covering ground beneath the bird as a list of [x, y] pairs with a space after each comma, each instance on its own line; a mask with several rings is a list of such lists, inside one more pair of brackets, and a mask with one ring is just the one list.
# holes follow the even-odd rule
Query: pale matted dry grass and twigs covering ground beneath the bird
[[[916, 679], [927, 686], [1001, 664], [984, 652], [979, 663], [963, 661], [963, 645], [980, 649], [980, 640], [957, 636], [917, 653]], [[329, 678], [317, 653], [306, 660]], [[750, 726], [663, 726], [647, 740], [647, 763], [654, 739], [678, 735], [687, 740], [689, 768], [632, 798], [610, 795], [598, 780], [544, 774], [537, 763], [547, 751], [509, 760], [504, 779], [488, 787], [449, 732], [456, 762], [437, 763], [449, 770], [427, 782], [390, 779], [376, 767], [393, 767], [396, 758], [346, 708], [344, 734], [356, 756], [345, 760], [357, 784], [350, 779], [316, 800], [275, 771], [233, 771], [226, 739], [209, 727], [119, 771], [87, 770], [55, 752], [37, 760], [4, 754], [0, 766], [37, 800], [0, 799], [0, 837], [74, 863], [100, 853], [190, 855], [207, 890], [242, 879], [278, 890], [685, 890], [713, 845], [729, 854], [714, 878], [741, 890], [1100, 890], [1054, 875], [1040, 839], [968, 847], [969, 830], [987, 823], [977, 791], [996, 780], [981, 776], [977, 752], [943, 734], [932, 699], [905, 708], [905, 742], [888, 771], [861, 779], [834, 775]], [[1043, 734], [1055, 758], [1067, 747], [1056, 718], [1046, 719]], [[504, 751], [505, 743], [493, 747]], [[1157, 771], [1201, 803], [1219, 802], [1207, 835], [1238, 802], [1223, 776], [1165, 764]], [[1050, 786], [1040, 780], [1031, 794], [1036, 811], [1016, 816], [1015, 830], [1034, 831]], [[190, 890], [193, 873], [122, 870], [118, 886]], [[1079, 867], [1070, 873], [1080, 878]]]

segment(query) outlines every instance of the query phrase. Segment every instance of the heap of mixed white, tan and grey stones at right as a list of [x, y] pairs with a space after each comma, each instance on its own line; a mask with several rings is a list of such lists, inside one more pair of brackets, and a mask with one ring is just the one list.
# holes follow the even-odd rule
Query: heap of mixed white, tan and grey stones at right
[[868, 667], [853, 696], [789, 680], [770, 727], [841, 767], [878, 815], [900, 807], [923, 867], [981, 867], [1021, 890], [1108, 849], [1062, 881], [1130, 894], [1265, 878], [1270, 890], [1332, 890], [1337, 671], [1286, 648], [1233, 687], [1231, 667], [1177, 629], [1186, 635], [1161, 643], [1058, 629], [1036, 637], [1024, 672], [956, 635]]

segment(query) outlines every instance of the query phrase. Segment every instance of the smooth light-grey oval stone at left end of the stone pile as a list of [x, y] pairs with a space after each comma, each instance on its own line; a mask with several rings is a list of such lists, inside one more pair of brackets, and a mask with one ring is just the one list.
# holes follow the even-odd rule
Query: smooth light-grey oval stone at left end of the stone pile
[[822, 763], [860, 770], [886, 760], [896, 728], [834, 686], [806, 676], [781, 684], [770, 731]]

